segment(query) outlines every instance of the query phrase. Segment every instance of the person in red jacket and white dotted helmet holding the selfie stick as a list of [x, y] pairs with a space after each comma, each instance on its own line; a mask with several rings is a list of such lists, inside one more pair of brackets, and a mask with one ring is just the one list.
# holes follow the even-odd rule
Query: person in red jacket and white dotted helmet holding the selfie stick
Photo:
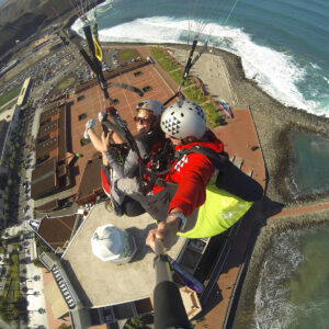
[[[175, 152], [197, 147], [211, 149], [215, 155], [222, 155], [223, 162], [228, 161], [224, 155], [224, 145], [216, 136], [207, 129], [203, 109], [190, 101], [179, 101], [164, 110], [161, 116], [161, 128], [166, 137], [170, 138]], [[218, 156], [219, 157], [219, 156]], [[186, 237], [202, 237], [219, 234], [237, 222], [251, 206], [250, 201], [243, 201], [229, 193], [224, 198], [234, 200], [238, 204], [235, 222], [220, 223], [215, 216], [207, 222], [207, 217], [200, 219], [197, 209], [206, 200], [206, 186], [215, 173], [215, 166], [209, 157], [202, 152], [193, 151], [184, 154], [181, 158], [173, 159], [167, 173], [158, 174], [161, 184], [155, 184], [152, 192], [141, 195], [138, 184], [133, 188], [125, 179], [117, 181], [117, 186], [128, 193], [158, 223], [158, 228], [149, 232], [147, 243], [152, 246], [155, 238], [163, 240], [163, 246], [169, 247], [178, 232]], [[258, 183], [256, 182], [257, 188]], [[127, 186], [129, 185], [129, 191]], [[217, 189], [219, 191], [219, 189]], [[257, 198], [261, 197], [260, 188]], [[220, 195], [222, 197], [222, 195]], [[188, 218], [189, 217], [189, 218]], [[225, 225], [229, 225], [225, 227]], [[205, 227], [203, 227], [205, 226]], [[200, 230], [201, 232], [194, 231]], [[193, 235], [189, 232], [193, 231]], [[204, 236], [204, 237], [205, 237]]]

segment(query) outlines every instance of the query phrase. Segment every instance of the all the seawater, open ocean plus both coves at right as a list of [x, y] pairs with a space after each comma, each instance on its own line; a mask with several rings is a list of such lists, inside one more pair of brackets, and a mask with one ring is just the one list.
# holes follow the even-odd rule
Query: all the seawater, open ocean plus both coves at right
[[[79, 10], [83, 1], [71, 2]], [[107, 42], [191, 44], [193, 32], [201, 33], [239, 55], [247, 77], [283, 104], [329, 116], [328, 0], [107, 0], [97, 16], [100, 39]], [[94, 13], [88, 19], [92, 23]], [[81, 34], [82, 25], [78, 20], [72, 29]], [[292, 138], [299, 190], [328, 183], [326, 164], [314, 172], [314, 157], [322, 157], [318, 146], [328, 151], [328, 140], [308, 137]], [[329, 328], [328, 250], [328, 229], [279, 237], [264, 260], [248, 328]]]

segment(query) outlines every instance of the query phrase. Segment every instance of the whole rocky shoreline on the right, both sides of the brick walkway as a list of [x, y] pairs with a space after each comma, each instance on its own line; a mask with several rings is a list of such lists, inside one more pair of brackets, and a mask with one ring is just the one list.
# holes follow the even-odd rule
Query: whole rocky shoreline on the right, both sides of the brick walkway
[[[185, 49], [185, 47], [177, 45], [166, 46]], [[229, 86], [235, 91], [237, 104], [245, 107], [249, 105], [269, 178], [266, 195], [271, 200], [284, 203], [286, 208], [293, 209], [293, 215], [283, 213], [266, 218], [260, 214], [257, 219], [254, 239], [250, 241], [250, 248], [246, 252], [246, 268], [236, 282], [238, 286], [234, 295], [235, 306], [232, 305], [232, 308], [227, 310], [227, 316], [232, 319], [234, 328], [246, 328], [250, 325], [253, 314], [261, 264], [273, 239], [288, 229], [329, 227], [328, 207], [303, 213], [303, 206], [311, 207], [322, 202], [329, 204], [329, 191], [295, 200], [285, 183], [292, 160], [290, 157], [291, 146], [287, 140], [290, 132], [299, 129], [328, 138], [329, 118], [316, 116], [305, 110], [285, 106], [268, 95], [254, 81], [246, 78], [238, 56], [220, 49], [212, 49], [212, 55], [223, 58], [228, 72], [226, 78], [229, 79]], [[201, 57], [200, 60], [205, 60], [205, 58]], [[195, 73], [200, 72], [196, 70]], [[209, 92], [213, 94], [211, 81], [203, 78], [203, 82], [208, 86]]]

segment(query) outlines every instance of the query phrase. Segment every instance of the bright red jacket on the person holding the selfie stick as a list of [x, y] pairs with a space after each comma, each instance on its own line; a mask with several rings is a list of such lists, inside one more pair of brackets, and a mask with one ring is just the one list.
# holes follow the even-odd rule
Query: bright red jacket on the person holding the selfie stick
[[[217, 152], [224, 151], [223, 143], [213, 134], [207, 135], [207, 139], [198, 140], [188, 145], [178, 145], [175, 150], [182, 148], [191, 148], [195, 145], [208, 147]], [[170, 202], [168, 213], [173, 208], [181, 208], [185, 216], [190, 216], [193, 211], [200, 207], [205, 202], [206, 184], [214, 173], [212, 161], [204, 155], [193, 152], [184, 155], [180, 160], [172, 163], [172, 169], [161, 177], [166, 182], [178, 184], [178, 190]], [[163, 188], [155, 185], [154, 193], [156, 194]]]

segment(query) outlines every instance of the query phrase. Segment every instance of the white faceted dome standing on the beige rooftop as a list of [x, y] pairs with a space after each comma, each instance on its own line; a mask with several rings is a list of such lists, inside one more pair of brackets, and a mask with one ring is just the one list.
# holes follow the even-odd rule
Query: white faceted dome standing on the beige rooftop
[[107, 224], [100, 226], [91, 238], [91, 249], [103, 262], [126, 263], [136, 252], [135, 240], [127, 231]]

